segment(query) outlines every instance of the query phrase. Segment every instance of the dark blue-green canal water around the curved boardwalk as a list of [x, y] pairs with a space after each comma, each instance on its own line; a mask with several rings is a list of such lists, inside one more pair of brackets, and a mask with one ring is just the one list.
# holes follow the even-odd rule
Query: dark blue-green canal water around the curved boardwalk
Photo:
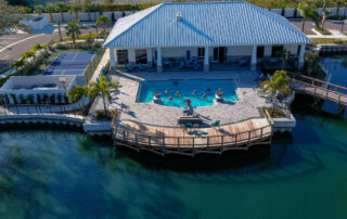
[[[332, 72], [347, 86], [340, 63]], [[311, 103], [297, 98], [297, 127], [271, 150], [194, 163], [82, 132], [2, 131], [0, 218], [347, 218], [347, 119]]]

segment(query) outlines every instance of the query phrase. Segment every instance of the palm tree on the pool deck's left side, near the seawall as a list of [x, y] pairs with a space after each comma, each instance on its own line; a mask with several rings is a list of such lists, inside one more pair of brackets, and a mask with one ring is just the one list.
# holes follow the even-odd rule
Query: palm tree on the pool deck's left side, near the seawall
[[88, 96], [93, 99], [95, 98], [99, 93], [102, 95], [102, 101], [104, 105], [104, 114], [107, 117], [107, 108], [106, 108], [106, 102], [105, 98], [111, 100], [111, 89], [118, 90], [118, 83], [114, 81], [107, 81], [106, 76], [101, 76], [99, 82], [91, 82], [89, 86], [88, 90]]

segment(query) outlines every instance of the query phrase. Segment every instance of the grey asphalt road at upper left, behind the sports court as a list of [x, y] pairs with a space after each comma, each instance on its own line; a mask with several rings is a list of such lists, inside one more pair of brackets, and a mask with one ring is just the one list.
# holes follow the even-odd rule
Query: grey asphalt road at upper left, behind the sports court
[[[62, 37], [66, 37], [64, 28]], [[99, 28], [100, 29], [100, 28]], [[108, 30], [111, 27], [107, 28]], [[82, 26], [81, 34], [95, 33], [94, 26]], [[0, 69], [17, 61], [21, 55], [31, 49], [36, 43], [48, 43], [52, 40], [59, 40], [59, 34], [55, 30], [52, 34], [18, 34], [0, 36]]]

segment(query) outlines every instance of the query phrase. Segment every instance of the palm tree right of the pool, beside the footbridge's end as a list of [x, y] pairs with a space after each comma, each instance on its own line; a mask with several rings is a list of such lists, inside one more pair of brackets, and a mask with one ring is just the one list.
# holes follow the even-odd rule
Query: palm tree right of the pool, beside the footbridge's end
[[[277, 70], [270, 80], [261, 82], [261, 89], [269, 93], [270, 96], [282, 96], [292, 93], [290, 86], [290, 78], [285, 70]], [[274, 113], [274, 105], [272, 104], [272, 114]]]

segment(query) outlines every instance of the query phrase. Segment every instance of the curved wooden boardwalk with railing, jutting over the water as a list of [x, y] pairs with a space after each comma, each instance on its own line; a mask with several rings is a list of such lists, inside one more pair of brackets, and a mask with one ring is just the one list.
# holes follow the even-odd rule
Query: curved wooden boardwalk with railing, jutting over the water
[[253, 118], [237, 124], [210, 128], [158, 127], [131, 120], [113, 121], [112, 134], [116, 144], [146, 150], [156, 154], [191, 155], [222, 154], [229, 150], [248, 150], [254, 144], [270, 144], [273, 121]]

